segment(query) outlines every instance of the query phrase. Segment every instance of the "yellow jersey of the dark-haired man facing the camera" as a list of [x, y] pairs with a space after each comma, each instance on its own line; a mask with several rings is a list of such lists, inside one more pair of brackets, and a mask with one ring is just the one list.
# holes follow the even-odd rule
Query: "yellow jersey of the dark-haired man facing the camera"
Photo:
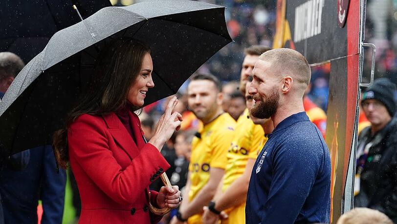
[[[199, 138], [194, 137], [189, 164], [190, 202], [208, 182], [211, 167], [226, 168], [227, 149], [232, 142], [235, 127], [236, 121], [228, 113], [223, 113], [199, 130]], [[201, 214], [196, 214], [188, 220], [189, 224], [197, 222], [201, 222]]]

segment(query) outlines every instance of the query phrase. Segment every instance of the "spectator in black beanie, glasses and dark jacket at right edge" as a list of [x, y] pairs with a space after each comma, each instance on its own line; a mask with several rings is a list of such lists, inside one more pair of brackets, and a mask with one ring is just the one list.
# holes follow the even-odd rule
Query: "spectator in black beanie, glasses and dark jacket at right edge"
[[354, 206], [379, 210], [397, 222], [396, 86], [378, 79], [363, 94], [361, 105], [371, 122], [358, 137]]

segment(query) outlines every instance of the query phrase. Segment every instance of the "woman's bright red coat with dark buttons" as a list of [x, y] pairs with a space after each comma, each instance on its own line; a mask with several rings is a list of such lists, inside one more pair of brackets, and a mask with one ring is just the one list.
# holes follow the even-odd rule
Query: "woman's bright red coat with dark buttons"
[[[84, 114], [67, 133], [69, 159], [79, 188], [79, 224], [149, 224], [161, 217], [148, 209], [149, 184], [170, 165], [145, 143], [139, 118], [129, 114], [136, 143], [115, 113]], [[152, 191], [155, 205], [157, 192]]]

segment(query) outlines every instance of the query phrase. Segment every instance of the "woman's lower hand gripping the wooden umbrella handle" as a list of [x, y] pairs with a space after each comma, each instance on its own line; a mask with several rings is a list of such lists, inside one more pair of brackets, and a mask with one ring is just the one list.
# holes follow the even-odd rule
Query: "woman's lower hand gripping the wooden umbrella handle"
[[172, 188], [162, 186], [157, 195], [157, 205], [159, 208], [163, 208], [165, 206], [176, 208], [181, 202], [179, 197], [180, 191], [178, 186], [172, 186]]

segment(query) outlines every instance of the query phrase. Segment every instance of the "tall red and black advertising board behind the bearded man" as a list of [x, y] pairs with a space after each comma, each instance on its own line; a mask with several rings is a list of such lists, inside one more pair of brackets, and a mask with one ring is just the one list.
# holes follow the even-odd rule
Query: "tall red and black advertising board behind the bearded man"
[[[273, 47], [302, 53], [312, 66], [331, 63], [326, 143], [331, 153], [331, 222], [352, 206], [344, 198], [351, 152], [355, 150], [360, 80], [362, 10], [360, 0], [278, 0]], [[351, 162], [350, 162], [351, 163]], [[350, 164], [350, 169], [354, 164]], [[351, 189], [351, 186], [348, 187]], [[346, 188], [346, 189], [348, 189]], [[349, 193], [349, 194], [348, 194]]]

